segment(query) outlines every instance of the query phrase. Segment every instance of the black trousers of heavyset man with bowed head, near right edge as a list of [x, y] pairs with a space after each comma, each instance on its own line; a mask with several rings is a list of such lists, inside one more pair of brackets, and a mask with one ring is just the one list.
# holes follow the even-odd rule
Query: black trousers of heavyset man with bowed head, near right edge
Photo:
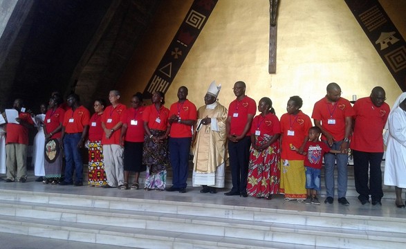
[[358, 199], [369, 200], [369, 195], [371, 195], [372, 201], [380, 201], [383, 196], [382, 171], [380, 169], [383, 152], [353, 150], [353, 156], [356, 190], [360, 194]]

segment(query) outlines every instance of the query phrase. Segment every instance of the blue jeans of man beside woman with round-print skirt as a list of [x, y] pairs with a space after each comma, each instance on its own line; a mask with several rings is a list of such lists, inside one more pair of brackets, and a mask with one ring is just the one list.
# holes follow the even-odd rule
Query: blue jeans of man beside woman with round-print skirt
[[83, 161], [80, 149], [77, 144], [82, 138], [82, 133], [66, 133], [64, 136], [65, 152], [65, 180], [66, 183], [73, 183], [73, 170], [75, 170], [75, 183], [83, 181]]

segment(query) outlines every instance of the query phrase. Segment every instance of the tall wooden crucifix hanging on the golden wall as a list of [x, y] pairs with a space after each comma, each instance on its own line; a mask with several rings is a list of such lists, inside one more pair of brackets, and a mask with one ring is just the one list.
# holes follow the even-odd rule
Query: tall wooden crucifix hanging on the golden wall
[[276, 73], [277, 10], [278, 0], [269, 0], [269, 66], [268, 73]]

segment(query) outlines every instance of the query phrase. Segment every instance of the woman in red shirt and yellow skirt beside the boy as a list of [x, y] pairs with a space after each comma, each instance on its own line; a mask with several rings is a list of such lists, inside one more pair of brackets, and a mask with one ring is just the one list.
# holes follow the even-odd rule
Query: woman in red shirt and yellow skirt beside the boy
[[282, 146], [281, 146], [281, 185], [280, 193], [285, 194], [285, 201], [304, 201], [306, 194], [306, 174], [304, 172], [304, 156], [293, 151], [304, 145], [308, 129], [312, 127], [311, 119], [302, 111], [303, 100], [292, 96], [286, 105], [286, 111], [281, 117]]

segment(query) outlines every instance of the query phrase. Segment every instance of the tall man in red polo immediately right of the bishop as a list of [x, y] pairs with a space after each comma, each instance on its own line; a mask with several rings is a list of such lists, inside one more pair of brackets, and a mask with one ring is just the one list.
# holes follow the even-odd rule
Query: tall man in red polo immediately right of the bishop
[[247, 197], [248, 161], [250, 159], [252, 118], [257, 112], [255, 100], [246, 95], [246, 83], [234, 84], [237, 97], [228, 107], [225, 131], [228, 137], [228, 154], [230, 156], [232, 189], [226, 196], [240, 195]]

